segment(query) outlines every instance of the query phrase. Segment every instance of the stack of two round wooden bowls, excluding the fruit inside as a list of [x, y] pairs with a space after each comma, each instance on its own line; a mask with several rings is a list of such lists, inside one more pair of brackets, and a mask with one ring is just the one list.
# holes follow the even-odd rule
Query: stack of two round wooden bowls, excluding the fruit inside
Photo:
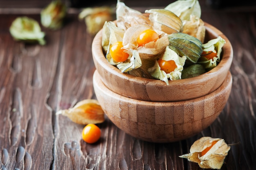
[[108, 118], [135, 138], [158, 143], [189, 138], [207, 128], [225, 107], [232, 87], [232, 46], [225, 35], [205, 23], [206, 40], [226, 40], [222, 59], [211, 71], [194, 78], [169, 81], [121, 73], [106, 60], [102, 31], [92, 42], [96, 71], [94, 91]]

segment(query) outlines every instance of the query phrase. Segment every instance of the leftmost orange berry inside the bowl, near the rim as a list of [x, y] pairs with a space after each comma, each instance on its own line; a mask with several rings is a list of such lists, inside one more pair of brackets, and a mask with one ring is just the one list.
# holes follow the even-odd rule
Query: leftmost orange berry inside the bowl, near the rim
[[110, 47], [110, 55], [116, 62], [124, 62], [129, 57], [129, 54], [124, 52], [124, 49], [122, 49], [123, 42], [117, 41]]

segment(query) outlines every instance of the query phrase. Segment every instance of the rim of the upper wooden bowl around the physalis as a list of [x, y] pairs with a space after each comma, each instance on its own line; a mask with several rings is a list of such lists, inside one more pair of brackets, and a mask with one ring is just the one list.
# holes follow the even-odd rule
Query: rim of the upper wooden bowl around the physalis
[[[214, 74], [216, 71], [222, 72], [225, 70], [225, 67], [230, 67], [232, 60], [233, 60], [233, 48], [231, 43], [229, 42], [228, 38], [216, 27], [213, 27], [212, 25], [208, 24], [207, 22], [204, 22], [205, 28], [207, 31], [209, 31], [211, 34], [215, 35], [216, 37], [221, 36], [223, 39], [225, 39], [226, 43], [222, 47], [222, 58], [220, 60], [220, 63], [210, 71], [201, 74], [199, 76], [195, 76], [193, 78], [186, 78], [186, 79], [180, 79], [180, 80], [175, 80], [171, 81], [169, 80], [169, 85], [171, 84], [193, 84], [193, 83], [198, 83], [198, 81], [202, 78], [204, 79], [207, 75]], [[99, 37], [99, 38], [97, 38]], [[93, 56], [100, 56], [100, 57], [94, 57], [95, 59], [98, 60], [98, 63], [102, 67], [104, 67], [108, 72], [111, 72], [112, 74], [115, 74], [116, 76], [124, 79], [128, 79], [129, 81], [136, 81], [136, 83], [159, 83], [160, 85], [167, 85], [164, 81], [162, 80], [157, 80], [157, 79], [149, 79], [149, 78], [142, 78], [142, 77], [137, 77], [133, 76], [128, 73], [122, 73], [121, 70], [119, 70], [117, 67], [114, 65], [111, 65], [108, 63], [108, 60], [106, 60], [105, 55], [103, 54], [102, 50], [102, 45], [101, 45], [101, 40], [102, 40], [102, 29], [96, 34], [94, 37], [94, 40], [92, 42], [92, 54]], [[97, 47], [101, 46], [101, 50], [98, 50]], [[230, 50], [228, 50], [227, 47], [230, 47]], [[100, 62], [99, 62], [100, 61]], [[228, 64], [228, 65], [227, 65]], [[219, 72], [218, 71], [218, 72]], [[167, 85], [168, 86], [168, 85]]]

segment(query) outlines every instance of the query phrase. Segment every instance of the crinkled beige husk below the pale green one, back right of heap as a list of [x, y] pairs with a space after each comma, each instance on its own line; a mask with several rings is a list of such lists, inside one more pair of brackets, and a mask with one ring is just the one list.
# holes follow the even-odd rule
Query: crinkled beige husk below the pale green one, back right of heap
[[190, 16], [190, 20], [184, 21], [182, 33], [198, 38], [202, 43], [205, 37], [204, 22], [197, 16]]

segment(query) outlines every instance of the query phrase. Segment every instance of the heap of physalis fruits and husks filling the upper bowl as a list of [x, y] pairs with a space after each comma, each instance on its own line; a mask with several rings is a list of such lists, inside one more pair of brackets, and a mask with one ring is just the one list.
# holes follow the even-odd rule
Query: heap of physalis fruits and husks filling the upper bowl
[[116, 22], [103, 26], [106, 58], [121, 72], [168, 80], [204, 74], [218, 65], [225, 40], [204, 43], [205, 26], [197, 0], [176, 1], [141, 13], [117, 1]]

